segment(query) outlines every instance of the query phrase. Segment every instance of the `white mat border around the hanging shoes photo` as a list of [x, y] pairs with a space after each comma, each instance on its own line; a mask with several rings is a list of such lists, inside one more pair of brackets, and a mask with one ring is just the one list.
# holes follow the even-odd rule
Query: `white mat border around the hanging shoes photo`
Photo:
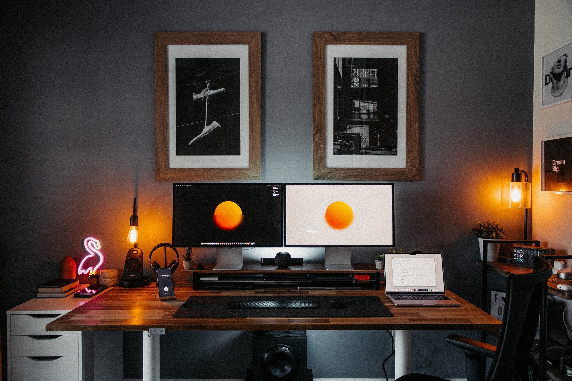
[[[175, 58], [240, 58], [240, 155], [177, 156]], [[248, 168], [248, 45], [169, 45], [169, 168]]]

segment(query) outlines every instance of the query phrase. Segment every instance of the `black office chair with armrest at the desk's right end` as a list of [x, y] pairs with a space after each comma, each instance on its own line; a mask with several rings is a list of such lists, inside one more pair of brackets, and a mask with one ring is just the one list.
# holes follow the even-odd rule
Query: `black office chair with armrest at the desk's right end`
[[[447, 343], [461, 348], [465, 354], [467, 381], [479, 380], [479, 362], [482, 356], [492, 359], [486, 381], [529, 379], [529, 355], [538, 327], [543, 300], [542, 285], [550, 275], [550, 263], [542, 257], [535, 257], [533, 272], [507, 277], [505, 315], [496, 347], [462, 336], [447, 337]], [[538, 369], [535, 373], [543, 378], [543, 375], [538, 374]], [[396, 381], [445, 381], [445, 379], [412, 373]]]

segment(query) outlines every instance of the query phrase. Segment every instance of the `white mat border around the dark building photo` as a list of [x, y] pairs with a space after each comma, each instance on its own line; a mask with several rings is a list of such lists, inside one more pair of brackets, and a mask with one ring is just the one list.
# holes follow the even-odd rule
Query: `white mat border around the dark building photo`
[[[333, 59], [398, 59], [398, 142], [396, 156], [333, 154]], [[407, 164], [407, 46], [406, 45], [326, 45], [325, 46], [325, 166], [326, 168], [406, 168]]]

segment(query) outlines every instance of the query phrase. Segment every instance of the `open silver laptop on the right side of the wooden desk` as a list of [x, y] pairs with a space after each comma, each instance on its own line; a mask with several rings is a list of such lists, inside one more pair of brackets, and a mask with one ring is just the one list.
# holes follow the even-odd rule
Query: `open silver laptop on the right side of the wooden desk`
[[386, 295], [393, 304], [460, 306], [445, 295], [441, 253], [387, 253], [383, 263]]

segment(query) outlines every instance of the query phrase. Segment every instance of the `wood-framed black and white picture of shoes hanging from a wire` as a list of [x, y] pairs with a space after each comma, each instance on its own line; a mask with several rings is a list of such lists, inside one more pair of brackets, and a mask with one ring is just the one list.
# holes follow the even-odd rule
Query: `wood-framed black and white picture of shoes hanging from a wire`
[[260, 32], [155, 33], [155, 178], [261, 178]]

